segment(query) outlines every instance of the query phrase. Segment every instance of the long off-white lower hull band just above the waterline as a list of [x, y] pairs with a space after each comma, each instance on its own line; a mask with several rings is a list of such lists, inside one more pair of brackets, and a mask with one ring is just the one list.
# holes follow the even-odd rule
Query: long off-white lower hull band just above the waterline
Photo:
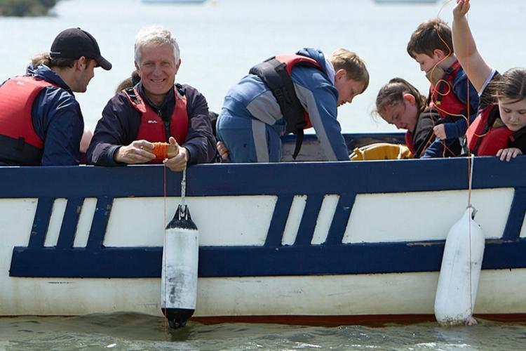
[[[200, 278], [194, 315], [432, 314], [437, 281], [438, 272]], [[0, 282], [0, 315], [161, 315], [160, 279], [0, 276]], [[525, 313], [525, 290], [526, 269], [483, 270], [475, 312]]]

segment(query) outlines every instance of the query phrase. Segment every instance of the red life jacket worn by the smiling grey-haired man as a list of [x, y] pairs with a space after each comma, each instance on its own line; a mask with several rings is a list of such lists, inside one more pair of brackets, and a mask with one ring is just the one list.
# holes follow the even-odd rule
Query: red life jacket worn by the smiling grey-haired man
[[[166, 127], [163, 119], [150, 105], [144, 103], [135, 88], [127, 88], [123, 93], [128, 97], [135, 110], [141, 114], [141, 123], [135, 140], [148, 140], [150, 143], [166, 143], [168, 138], [173, 136], [179, 145], [187, 139], [188, 133], [188, 112], [187, 98], [184, 96], [184, 88], [180, 84], [174, 86], [175, 107], [172, 117], [170, 117], [170, 135], [166, 135]], [[161, 160], [155, 159], [156, 163]]]

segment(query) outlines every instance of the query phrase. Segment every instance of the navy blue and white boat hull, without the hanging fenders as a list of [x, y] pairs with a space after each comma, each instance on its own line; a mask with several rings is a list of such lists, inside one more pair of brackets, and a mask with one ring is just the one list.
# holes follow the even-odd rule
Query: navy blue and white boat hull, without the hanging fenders
[[[523, 157], [475, 161], [471, 199], [486, 239], [476, 314], [526, 314], [525, 166]], [[1, 167], [0, 315], [161, 316], [163, 228], [181, 181], [167, 171], [165, 199], [164, 172]], [[461, 158], [189, 167], [200, 233], [194, 317], [431, 317], [467, 176]]]

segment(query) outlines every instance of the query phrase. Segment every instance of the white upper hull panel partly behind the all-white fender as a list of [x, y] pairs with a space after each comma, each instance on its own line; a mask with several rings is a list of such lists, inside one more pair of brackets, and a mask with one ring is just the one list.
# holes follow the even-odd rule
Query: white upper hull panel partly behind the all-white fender
[[[475, 220], [486, 238], [502, 237], [513, 192], [513, 188], [472, 191]], [[467, 201], [466, 190], [358, 194], [343, 242], [442, 240]]]

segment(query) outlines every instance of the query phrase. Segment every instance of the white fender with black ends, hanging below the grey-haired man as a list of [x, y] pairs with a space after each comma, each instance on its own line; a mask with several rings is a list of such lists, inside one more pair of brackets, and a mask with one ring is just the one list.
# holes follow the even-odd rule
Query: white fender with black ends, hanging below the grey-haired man
[[198, 230], [180, 205], [166, 227], [161, 272], [161, 310], [170, 326], [184, 326], [196, 309]]

